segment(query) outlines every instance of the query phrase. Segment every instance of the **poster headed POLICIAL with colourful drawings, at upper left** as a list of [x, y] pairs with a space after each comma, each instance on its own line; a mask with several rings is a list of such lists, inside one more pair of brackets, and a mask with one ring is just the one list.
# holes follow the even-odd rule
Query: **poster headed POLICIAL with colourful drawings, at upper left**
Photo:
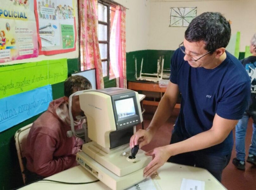
[[0, 0], [0, 63], [38, 56], [33, 0]]

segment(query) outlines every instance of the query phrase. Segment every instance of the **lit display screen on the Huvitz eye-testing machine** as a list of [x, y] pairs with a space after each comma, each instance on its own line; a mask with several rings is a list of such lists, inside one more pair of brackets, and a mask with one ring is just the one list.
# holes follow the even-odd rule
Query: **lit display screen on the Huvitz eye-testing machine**
[[136, 114], [133, 98], [127, 98], [115, 101], [115, 107], [118, 119], [130, 117]]

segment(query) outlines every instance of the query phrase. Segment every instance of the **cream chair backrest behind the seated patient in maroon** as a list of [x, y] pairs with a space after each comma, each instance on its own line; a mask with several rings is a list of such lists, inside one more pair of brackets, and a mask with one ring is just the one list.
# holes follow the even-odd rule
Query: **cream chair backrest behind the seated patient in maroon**
[[17, 155], [18, 155], [18, 159], [19, 159], [19, 163], [20, 163], [20, 169], [21, 169], [21, 174], [22, 174], [24, 184], [25, 184], [25, 179], [26, 179], [26, 176], [23, 173], [25, 170], [25, 166], [23, 163], [24, 145], [26, 144], [27, 136], [29, 134], [29, 130], [30, 130], [31, 126], [32, 126], [32, 124], [28, 124], [28, 125], [20, 128], [19, 130], [16, 131], [15, 136], [14, 136], [15, 146], [17, 149]]

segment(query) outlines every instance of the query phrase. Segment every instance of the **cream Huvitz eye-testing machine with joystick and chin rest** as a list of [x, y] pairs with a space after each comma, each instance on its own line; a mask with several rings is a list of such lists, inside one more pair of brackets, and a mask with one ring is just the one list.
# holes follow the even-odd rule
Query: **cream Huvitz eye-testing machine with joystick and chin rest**
[[71, 135], [81, 136], [81, 130], [74, 129], [71, 113], [71, 100], [76, 95], [79, 95], [91, 140], [83, 144], [76, 161], [113, 190], [125, 189], [142, 181], [143, 169], [152, 157], [138, 150], [137, 146], [132, 150], [129, 148], [135, 126], [143, 121], [138, 92], [106, 88], [72, 94], [69, 97]]

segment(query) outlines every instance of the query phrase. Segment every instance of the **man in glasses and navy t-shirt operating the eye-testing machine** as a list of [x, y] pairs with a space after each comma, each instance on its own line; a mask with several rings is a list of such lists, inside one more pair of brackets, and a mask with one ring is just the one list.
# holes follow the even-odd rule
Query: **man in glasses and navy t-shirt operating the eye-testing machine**
[[220, 13], [205, 12], [189, 24], [172, 56], [170, 82], [151, 123], [130, 139], [130, 148], [148, 144], [181, 92], [171, 143], [146, 153], [154, 159], [144, 176], [168, 161], [205, 168], [221, 181], [231, 157], [232, 129], [250, 101], [251, 80], [240, 61], [225, 50], [230, 35], [230, 24]]

